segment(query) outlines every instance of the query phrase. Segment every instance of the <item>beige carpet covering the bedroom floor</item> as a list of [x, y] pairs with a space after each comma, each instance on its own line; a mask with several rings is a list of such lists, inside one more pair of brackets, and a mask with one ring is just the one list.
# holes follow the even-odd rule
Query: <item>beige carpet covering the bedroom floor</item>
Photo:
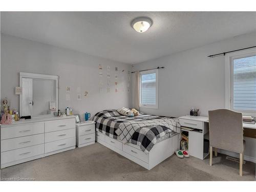
[[246, 162], [243, 177], [239, 163], [219, 154], [213, 166], [209, 159], [169, 157], [151, 170], [122, 157], [99, 143], [1, 169], [2, 179], [34, 180], [136, 180], [136, 181], [214, 181], [255, 180], [255, 164]]

